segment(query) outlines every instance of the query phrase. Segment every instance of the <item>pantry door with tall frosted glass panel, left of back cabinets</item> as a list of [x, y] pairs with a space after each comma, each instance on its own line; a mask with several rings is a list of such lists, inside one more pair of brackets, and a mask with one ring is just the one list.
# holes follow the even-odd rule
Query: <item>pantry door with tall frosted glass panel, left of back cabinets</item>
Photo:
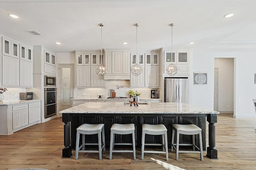
[[72, 107], [74, 64], [59, 64], [59, 111]]

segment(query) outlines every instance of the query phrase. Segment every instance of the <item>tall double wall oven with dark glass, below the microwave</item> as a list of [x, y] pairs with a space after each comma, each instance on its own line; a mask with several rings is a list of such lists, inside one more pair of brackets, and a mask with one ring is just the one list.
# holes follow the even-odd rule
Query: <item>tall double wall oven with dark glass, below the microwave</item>
[[57, 88], [44, 88], [44, 118], [56, 115]]

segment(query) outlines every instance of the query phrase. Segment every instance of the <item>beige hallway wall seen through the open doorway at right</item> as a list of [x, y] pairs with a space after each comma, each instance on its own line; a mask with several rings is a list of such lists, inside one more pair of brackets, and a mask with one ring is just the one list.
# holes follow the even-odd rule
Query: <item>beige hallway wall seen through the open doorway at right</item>
[[218, 111], [234, 112], [234, 58], [215, 58], [218, 68]]

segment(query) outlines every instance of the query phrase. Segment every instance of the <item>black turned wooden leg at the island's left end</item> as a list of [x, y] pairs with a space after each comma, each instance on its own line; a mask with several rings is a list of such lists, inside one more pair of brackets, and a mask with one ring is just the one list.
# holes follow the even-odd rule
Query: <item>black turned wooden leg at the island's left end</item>
[[70, 158], [72, 149], [70, 146], [70, 114], [62, 114], [62, 122], [64, 122], [64, 148], [62, 149], [62, 158]]

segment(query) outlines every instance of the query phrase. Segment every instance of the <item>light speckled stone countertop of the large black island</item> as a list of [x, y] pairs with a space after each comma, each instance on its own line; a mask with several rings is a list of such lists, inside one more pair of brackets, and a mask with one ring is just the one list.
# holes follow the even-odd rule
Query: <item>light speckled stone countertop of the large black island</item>
[[149, 103], [130, 106], [123, 102], [88, 102], [74, 106], [60, 113], [177, 113], [177, 114], [218, 114], [218, 111], [192, 106], [186, 103]]

